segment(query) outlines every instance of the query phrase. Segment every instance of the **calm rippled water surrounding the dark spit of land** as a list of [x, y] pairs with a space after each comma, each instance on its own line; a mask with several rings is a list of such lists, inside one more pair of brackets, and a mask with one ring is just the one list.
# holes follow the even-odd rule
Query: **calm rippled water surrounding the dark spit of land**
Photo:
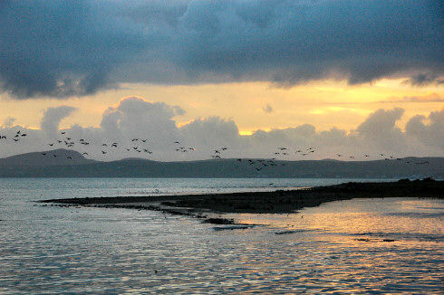
[[233, 215], [262, 224], [243, 230], [159, 212], [34, 203], [339, 182], [0, 179], [0, 293], [442, 292], [442, 200], [351, 200], [298, 214]]

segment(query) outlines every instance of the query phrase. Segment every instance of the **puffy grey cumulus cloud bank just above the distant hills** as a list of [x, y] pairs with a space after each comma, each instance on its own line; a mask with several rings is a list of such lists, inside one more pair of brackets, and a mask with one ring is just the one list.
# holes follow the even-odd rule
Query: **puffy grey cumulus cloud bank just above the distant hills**
[[[381, 158], [381, 153], [396, 157], [444, 157], [444, 109], [431, 112], [428, 118], [412, 117], [406, 131], [396, 127], [403, 109], [378, 109], [355, 130], [317, 130], [314, 125], [304, 124], [294, 128], [256, 130], [251, 136], [240, 136], [236, 122], [218, 117], [195, 119], [177, 127], [174, 118], [183, 113], [183, 109], [140, 97], [124, 98], [118, 105], [107, 109], [100, 128], [74, 125], [57, 130], [60, 120], [72, 110], [65, 106], [48, 109], [43, 115], [42, 129], [17, 126], [0, 128], [0, 133], [8, 138], [13, 138], [18, 129], [28, 135], [18, 142], [11, 139], [0, 142], [0, 156], [67, 148], [65, 138], [72, 138], [70, 140], [75, 145], [69, 148], [87, 152], [88, 157], [99, 160], [124, 157], [167, 161], [206, 159], [214, 156], [214, 150], [221, 147], [228, 148], [222, 152], [222, 157], [276, 157], [287, 160], [377, 159]], [[48, 132], [51, 137], [47, 136]], [[139, 139], [133, 141], [135, 138]], [[82, 144], [81, 139], [89, 145]], [[117, 147], [111, 147], [114, 142], [118, 143]], [[287, 149], [279, 150], [279, 147]], [[178, 148], [179, 151], [176, 150]], [[301, 152], [296, 153], [298, 150]]]

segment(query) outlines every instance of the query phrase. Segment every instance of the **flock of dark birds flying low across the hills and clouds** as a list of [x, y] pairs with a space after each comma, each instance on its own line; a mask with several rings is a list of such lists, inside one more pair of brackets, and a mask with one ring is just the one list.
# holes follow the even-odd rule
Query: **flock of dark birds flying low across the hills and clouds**
[[[47, 145], [49, 147], [65, 147], [65, 148], [74, 148], [76, 145], [80, 144], [84, 147], [89, 146], [90, 142], [87, 141], [85, 138], [80, 138], [77, 140], [77, 142], [72, 139], [69, 135], [66, 134], [66, 131], [60, 132], [61, 138], [48, 143]], [[12, 140], [13, 142], [18, 142], [22, 139], [27, 137], [27, 134], [24, 130], [18, 130], [15, 132], [14, 136], [12, 138], [7, 138], [5, 135], [0, 135], [0, 143], [4, 140]], [[131, 138], [131, 145], [130, 147], [123, 147], [127, 152], [133, 152], [133, 153], [147, 153], [152, 154], [152, 151], [150, 151], [149, 145], [149, 139], [148, 138]], [[187, 153], [187, 152], [194, 152], [196, 150], [196, 147], [185, 147], [182, 145], [179, 141], [175, 141], [173, 143], [173, 150], [178, 153]], [[101, 144], [101, 155], [106, 155], [110, 148], [118, 148], [121, 147], [121, 144], [119, 142], [111, 142], [111, 143], [102, 143]], [[226, 152], [229, 149], [229, 147], [219, 147], [217, 149], [214, 149], [212, 151], [212, 154], [210, 155], [213, 159], [221, 159], [223, 158], [224, 152]], [[274, 152], [274, 157], [270, 159], [253, 159], [253, 158], [237, 158], [236, 160], [238, 162], [246, 161], [248, 165], [254, 167], [256, 171], [261, 171], [265, 167], [275, 167], [278, 165], [285, 166], [285, 163], [282, 163], [282, 161], [277, 162], [279, 160], [284, 160], [285, 157], [289, 157], [290, 155], [296, 155], [296, 156], [302, 156], [306, 157], [309, 155], [312, 155], [316, 152], [314, 147], [308, 147], [304, 149], [297, 149], [295, 151], [291, 151], [289, 147], [277, 147]], [[58, 157], [55, 153], [51, 154], [53, 157]], [[42, 152], [42, 156], [50, 156], [49, 152]], [[89, 156], [87, 152], [83, 152], [82, 156]], [[337, 158], [349, 158], [354, 159], [354, 156], [345, 156], [343, 154], [336, 154]], [[364, 157], [371, 157], [370, 155], [363, 155]], [[71, 156], [67, 156], [66, 158], [72, 159]], [[430, 164], [429, 161], [422, 161], [422, 162], [410, 162], [406, 158], [403, 157], [393, 157], [393, 156], [387, 156], [385, 154], [379, 154], [379, 159], [385, 159], [385, 160], [398, 160], [398, 161], [404, 161], [406, 164], [416, 164], [416, 165], [424, 165], [424, 164]]]

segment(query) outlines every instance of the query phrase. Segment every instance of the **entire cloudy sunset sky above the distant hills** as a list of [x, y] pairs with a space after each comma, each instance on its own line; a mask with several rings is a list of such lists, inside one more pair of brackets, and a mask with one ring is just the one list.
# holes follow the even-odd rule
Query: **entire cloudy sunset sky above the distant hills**
[[444, 5], [1, 1], [0, 136], [0, 157], [444, 157]]

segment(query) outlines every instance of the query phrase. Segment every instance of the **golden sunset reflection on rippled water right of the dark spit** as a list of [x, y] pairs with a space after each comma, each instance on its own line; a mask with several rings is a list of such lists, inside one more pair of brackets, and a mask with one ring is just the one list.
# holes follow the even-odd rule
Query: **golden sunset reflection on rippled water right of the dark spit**
[[430, 284], [442, 287], [443, 209], [442, 201], [355, 199], [297, 214], [242, 214], [239, 222], [271, 229], [269, 238], [294, 255], [293, 277], [323, 293], [429, 293]]

